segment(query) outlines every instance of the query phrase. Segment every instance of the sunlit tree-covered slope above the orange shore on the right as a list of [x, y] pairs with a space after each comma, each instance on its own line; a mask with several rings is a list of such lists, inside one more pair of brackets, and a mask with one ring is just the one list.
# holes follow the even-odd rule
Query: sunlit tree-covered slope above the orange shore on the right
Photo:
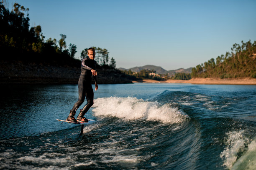
[[256, 78], [256, 41], [235, 43], [231, 52], [220, 55], [192, 68], [191, 77]]

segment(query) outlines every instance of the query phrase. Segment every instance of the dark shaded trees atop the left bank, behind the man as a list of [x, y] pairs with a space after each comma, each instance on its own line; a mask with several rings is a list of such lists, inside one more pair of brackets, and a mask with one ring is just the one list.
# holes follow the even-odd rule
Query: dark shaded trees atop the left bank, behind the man
[[[13, 10], [9, 10], [0, 2], [0, 50], [1, 60], [37, 60], [74, 64], [77, 46], [66, 42], [67, 35], [60, 34], [60, 39], [49, 38], [45, 40], [40, 25], [29, 25], [28, 8], [15, 3]], [[95, 47], [98, 65], [108, 65], [109, 52], [106, 49]], [[81, 58], [87, 57], [87, 48], [81, 53]], [[112, 57], [109, 66], [115, 68], [116, 62]]]

